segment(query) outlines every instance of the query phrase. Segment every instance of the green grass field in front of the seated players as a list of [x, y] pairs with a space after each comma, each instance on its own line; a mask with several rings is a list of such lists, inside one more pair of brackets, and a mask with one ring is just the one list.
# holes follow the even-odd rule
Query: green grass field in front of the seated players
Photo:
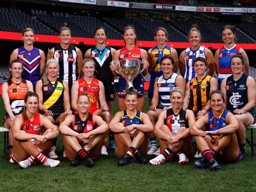
[[[147, 98], [145, 98], [147, 100]], [[115, 103], [115, 112], [117, 111]], [[4, 105], [0, 99], [0, 116]], [[148, 103], [145, 103], [147, 111]], [[2, 122], [1, 122], [2, 126]], [[247, 157], [235, 164], [221, 164], [221, 170], [198, 170], [193, 162], [178, 165], [166, 162], [159, 166], [138, 164], [134, 160], [124, 167], [108, 149], [107, 157], [100, 157], [93, 168], [80, 165], [70, 167], [62, 157], [61, 137], [56, 153], [61, 163], [56, 168], [35, 165], [22, 170], [17, 164], [3, 159], [3, 133], [0, 133], [0, 191], [256, 191], [256, 159], [247, 145]], [[256, 135], [254, 136], [256, 137]], [[147, 160], [155, 156], [147, 156]]]

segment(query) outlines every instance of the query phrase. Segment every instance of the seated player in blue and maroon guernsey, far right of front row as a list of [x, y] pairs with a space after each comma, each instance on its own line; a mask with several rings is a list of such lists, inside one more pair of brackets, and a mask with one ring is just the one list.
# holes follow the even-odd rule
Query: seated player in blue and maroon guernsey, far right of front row
[[[241, 155], [235, 133], [239, 122], [234, 114], [223, 109], [224, 102], [224, 95], [220, 90], [211, 92], [212, 111], [189, 128], [191, 135], [195, 136], [198, 149], [202, 151], [202, 159], [194, 163], [197, 168], [204, 168], [209, 162], [211, 170], [217, 170], [221, 167], [215, 159], [231, 163], [236, 162]], [[204, 126], [206, 131], [201, 131]]]

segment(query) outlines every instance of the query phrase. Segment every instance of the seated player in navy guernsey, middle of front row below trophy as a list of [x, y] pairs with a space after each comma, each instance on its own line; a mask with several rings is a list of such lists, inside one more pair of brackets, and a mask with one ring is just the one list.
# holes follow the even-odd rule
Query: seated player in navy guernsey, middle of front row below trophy
[[124, 103], [126, 110], [119, 111], [109, 124], [109, 128], [115, 133], [115, 154], [122, 158], [118, 164], [127, 165], [134, 156], [139, 163], [147, 163], [143, 155], [147, 154], [147, 136], [154, 127], [149, 116], [136, 110], [138, 103], [137, 92], [133, 87], [126, 92]]

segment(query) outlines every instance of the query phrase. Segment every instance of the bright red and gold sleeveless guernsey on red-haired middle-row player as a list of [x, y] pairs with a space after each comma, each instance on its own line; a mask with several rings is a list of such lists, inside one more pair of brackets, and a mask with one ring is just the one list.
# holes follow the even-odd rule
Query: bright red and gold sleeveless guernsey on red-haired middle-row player
[[84, 78], [78, 79], [78, 96], [80, 96], [83, 92], [88, 93], [91, 103], [89, 113], [93, 114], [95, 111], [100, 109], [98, 104], [98, 97], [100, 92], [99, 80], [93, 78], [93, 80], [88, 83]]

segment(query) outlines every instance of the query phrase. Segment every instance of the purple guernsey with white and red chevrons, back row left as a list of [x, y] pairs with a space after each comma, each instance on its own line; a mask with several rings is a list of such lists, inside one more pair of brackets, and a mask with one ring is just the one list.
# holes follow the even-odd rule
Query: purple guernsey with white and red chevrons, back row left
[[28, 51], [24, 46], [18, 48], [18, 59], [23, 63], [22, 78], [32, 82], [34, 90], [35, 84], [40, 79], [40, 52], [38, 48], [33, 47]]

